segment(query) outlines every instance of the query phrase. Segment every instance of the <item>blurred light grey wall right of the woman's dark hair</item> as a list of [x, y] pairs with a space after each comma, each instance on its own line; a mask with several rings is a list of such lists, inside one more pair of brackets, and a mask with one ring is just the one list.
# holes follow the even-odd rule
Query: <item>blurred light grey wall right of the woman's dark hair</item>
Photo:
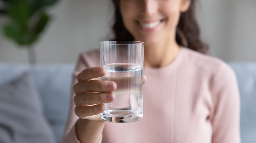
[[201, 0], [197, 17], [212, 55], [225, 61], [256, 61], [255, 6], [255, 0]]

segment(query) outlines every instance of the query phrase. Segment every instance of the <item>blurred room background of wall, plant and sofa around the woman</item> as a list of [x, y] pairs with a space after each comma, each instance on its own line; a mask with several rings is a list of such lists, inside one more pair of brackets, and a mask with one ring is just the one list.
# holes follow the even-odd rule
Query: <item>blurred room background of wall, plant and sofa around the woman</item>
[[[238, 79], [242, 143], [256, 142], [255, 7], [256, 0], [201, 0], [197, 7], [211, 55]], [[110, 0], [0, 0], [0, 142], [61, 141], [78, 54], [112, 38], [112, 16]]]

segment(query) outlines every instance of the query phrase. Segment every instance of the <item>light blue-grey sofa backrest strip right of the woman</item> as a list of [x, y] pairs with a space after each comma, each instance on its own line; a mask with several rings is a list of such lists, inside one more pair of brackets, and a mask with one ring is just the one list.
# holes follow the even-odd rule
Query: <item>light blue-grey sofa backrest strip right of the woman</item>
[[256, 63], [228, 63], [237, 76], [241, 99], [241, 140], [256, 142]]

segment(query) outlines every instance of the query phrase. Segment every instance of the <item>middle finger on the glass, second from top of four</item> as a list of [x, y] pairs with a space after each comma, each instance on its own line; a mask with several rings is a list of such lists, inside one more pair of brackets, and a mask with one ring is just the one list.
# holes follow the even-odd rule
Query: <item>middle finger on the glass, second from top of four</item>
[[90, 80], [77, 83], [73, 88], [74, 92], [79, 95], [88, 92], [112, 92], [116, 87], [117, 85], [113, 81]]

